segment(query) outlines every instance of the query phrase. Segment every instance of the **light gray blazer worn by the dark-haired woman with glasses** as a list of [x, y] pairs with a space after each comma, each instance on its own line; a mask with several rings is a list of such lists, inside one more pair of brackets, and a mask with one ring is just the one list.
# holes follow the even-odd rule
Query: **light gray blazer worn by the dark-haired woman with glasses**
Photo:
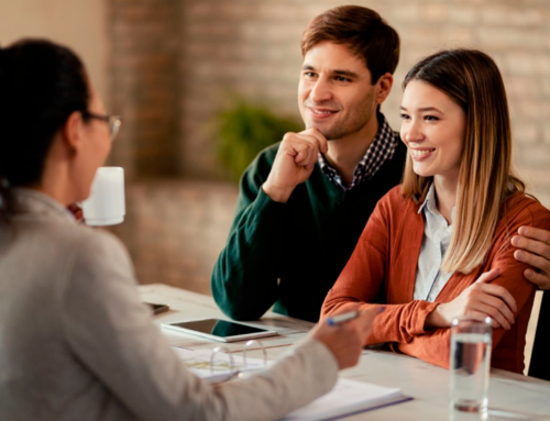
[[264, 374], [206, 384], [152, 323], [120, 242], [16, 195], [0, 225], [0, 420], [275, 420], [333, 387], [315, 340]]

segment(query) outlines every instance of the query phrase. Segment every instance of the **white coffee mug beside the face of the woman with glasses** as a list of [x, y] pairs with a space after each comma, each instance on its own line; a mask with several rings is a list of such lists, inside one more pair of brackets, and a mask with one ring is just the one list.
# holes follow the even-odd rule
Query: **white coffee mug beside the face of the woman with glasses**
[[91, 184], [90, 197], [82, 202], [87, 225], [116, 225], [124, 221], [124, 168], [99, 167]]

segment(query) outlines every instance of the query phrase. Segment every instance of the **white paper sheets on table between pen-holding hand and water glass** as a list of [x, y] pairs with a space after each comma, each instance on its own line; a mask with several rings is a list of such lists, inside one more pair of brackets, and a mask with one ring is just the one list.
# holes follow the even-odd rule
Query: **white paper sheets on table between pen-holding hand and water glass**
[[399, 389], [341, 378], [330, 392], [290, 412], [283, 420], [334, 420], [352, 413], [387, 407], [411, 399], [403, 395]]

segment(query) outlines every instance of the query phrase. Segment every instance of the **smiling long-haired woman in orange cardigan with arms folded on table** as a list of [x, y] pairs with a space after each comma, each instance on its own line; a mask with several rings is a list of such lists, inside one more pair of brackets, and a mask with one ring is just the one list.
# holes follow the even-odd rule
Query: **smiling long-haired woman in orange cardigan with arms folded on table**
[[419, 62], [403, 84], [404, 182], [378, 202], [321, 314], [382, 300], [366, 345], [449, 367], [457, 317], [493, 318], [494, 367], [524, 369], [535, 286], [509, 239], [550, 229], [512, 170], [506, 92], [495, 63], [453, 49]]

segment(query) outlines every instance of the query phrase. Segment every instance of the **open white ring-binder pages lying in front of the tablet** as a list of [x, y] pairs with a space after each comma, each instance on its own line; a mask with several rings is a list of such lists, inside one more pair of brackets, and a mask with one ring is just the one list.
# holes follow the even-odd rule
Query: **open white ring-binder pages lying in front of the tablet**
[[[216, 354], [213, 365], [210, 366], [212, 355], [210, 350], [187, 350], [177, 346], [172, 346], [172, 348], [194, 374], [211, 383], [228, 380], [235, 370], [253, 372], [264, 368], [263, 359], [246, 357], [246, 366], [244, 366], [242, 355], [224, 353]], [[230, 355], [233, 357], [233, 367], [231, 367]]]

